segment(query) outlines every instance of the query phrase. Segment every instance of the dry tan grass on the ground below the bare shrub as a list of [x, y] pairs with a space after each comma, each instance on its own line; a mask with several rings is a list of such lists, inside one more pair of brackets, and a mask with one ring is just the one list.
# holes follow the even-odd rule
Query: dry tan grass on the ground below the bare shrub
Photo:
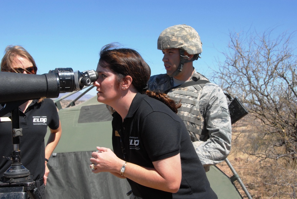
[[[244, 148], [249, 145], [249, 139], [254, 136], [253, 129], [259, 126], [259, 123], [255, 121], [251, 123], [249, 119], [248, 116], [245, 116], [233, 125], [232, 149], [228, 160], [252, 198], [297, 198], [296, 164], [289, 164], [282, 159], [260, 161], [255, 156], [247, 155], [243, 152]], [[229, 177], [233, 176], [226, 162], [222, 162], [217, 166]], [[247, 198], [238, 181], [234, 183], [241, 195]]]

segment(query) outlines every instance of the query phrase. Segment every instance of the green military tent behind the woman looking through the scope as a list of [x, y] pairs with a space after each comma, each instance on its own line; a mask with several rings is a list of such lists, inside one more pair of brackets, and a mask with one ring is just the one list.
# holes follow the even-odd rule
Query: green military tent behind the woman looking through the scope
[[[105, 104], [97, 102], [95, 96], [60, 109], [59, 117], [62, 136], [48, 162], [47, 199], [129, 198], [127, 180], [110, 173], [92, 173], [89, 167], [96, 146], [112, 149], [112, 116]], [[206, 174], [220, 199], [242, 198], [230, 178], [217, 167], [211, 166]]]

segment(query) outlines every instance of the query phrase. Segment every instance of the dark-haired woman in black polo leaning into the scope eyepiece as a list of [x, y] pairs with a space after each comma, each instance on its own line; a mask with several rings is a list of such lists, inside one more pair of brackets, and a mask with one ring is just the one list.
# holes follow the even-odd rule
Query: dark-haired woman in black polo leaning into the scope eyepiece
[[97, 72], [97, 101], [116, 112], [114, 152], [97, 147], [90, 159], [92, 172], [127, 178], [133, 198], [217, 198], [175, 114], [178, 106], [167, 95], [147, 90], [151, 70], [138, 52], [104, 46]]

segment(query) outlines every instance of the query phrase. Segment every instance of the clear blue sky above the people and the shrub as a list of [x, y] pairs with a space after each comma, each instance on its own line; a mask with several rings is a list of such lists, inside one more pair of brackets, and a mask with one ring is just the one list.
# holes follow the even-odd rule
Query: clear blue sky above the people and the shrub
[[208, 76], [216, 60], [224, 59], [221, 52], [228, 47], [229, 32], [293, 32], [296, 10], [296, 0], [0, 0], [0, 55], [8, 45], [21, 45], [35, 59], [37, 74], [55, 68], [84, 71], [96, 69], [102, 46], [118, 42], [137, 50], [155, 75], [166, 72], [157, 50], [159, 34], [187, 24], [203, 43], [195, 69]]

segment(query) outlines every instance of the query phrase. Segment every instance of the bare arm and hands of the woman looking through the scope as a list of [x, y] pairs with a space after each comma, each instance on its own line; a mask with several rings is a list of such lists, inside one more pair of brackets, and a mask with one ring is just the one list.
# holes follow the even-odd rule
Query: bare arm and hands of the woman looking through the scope
[[123, 176], [120, 169], [125, 163], [119, 159], [109, 148], [97, 147], [98, 152], [93, 152], [90, 168], [94, 166], [93, 173], [110, 172], [119, 178], [129, 178], [138, 184], [154, 189], [176, 193], [181, 184], [181, 158], [175, 156], [152, 162], [154, 168], [142, 167], [128, 162]]

